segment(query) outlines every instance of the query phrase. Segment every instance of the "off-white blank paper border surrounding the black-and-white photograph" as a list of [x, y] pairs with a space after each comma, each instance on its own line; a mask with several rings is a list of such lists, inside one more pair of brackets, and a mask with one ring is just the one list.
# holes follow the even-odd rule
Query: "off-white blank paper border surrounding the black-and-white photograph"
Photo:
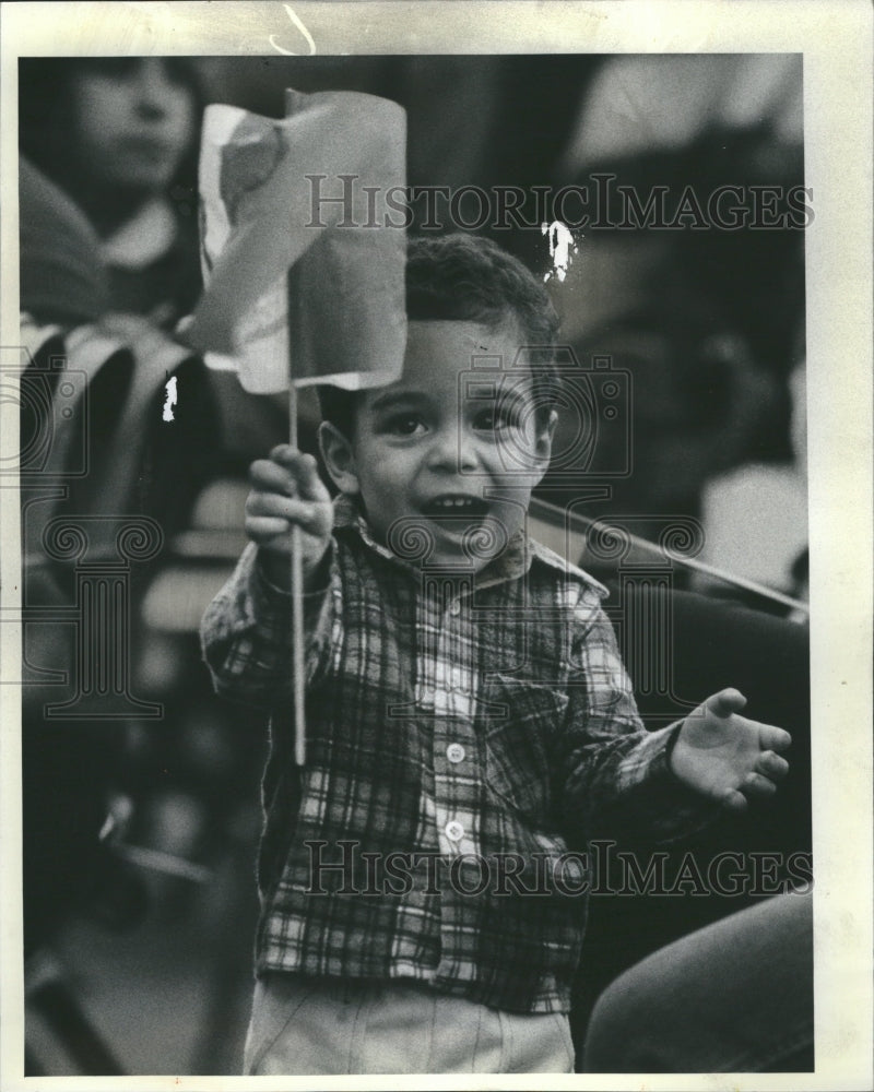
[[[801, 52], [806, 230], [816, 1070], [812, 1075], [550, 1077], [550, 1089], [864, 1090], [872, 1079], [872, 10], [861, 0], [362, 3], [3, 3], [0, 345], [19, 325], [16, 58], [78, 55]], [[830, 361], [831, 364], [826, 364]], [[4, 418], [3, 450], [15, 450]], [[2, 595], [14, 607], [19, 514], [0, 490]], [[0, 672], [19, 669], [2, 627]], [[0, 686], [2, 1042], [19, 1089], [350, 1088], [342, 1079], [24, 1078], [17, 693]], [[476, 1088], [530, 1089], [531, 1077]], [[356, 1089], [470, 1089], [469, 1077], [357, 1078]]]

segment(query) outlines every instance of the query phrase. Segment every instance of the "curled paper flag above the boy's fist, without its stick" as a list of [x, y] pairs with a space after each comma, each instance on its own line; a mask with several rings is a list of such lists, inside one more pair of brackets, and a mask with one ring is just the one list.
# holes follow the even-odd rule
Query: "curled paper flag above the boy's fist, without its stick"
[[287, 97], [281, 120], [205, 110], [206, 288], [186, 337], [252, 393], [287, 390], [290, 363], [296, 387], [392, 382], [406, 343], [404, 110], [354, 92]]

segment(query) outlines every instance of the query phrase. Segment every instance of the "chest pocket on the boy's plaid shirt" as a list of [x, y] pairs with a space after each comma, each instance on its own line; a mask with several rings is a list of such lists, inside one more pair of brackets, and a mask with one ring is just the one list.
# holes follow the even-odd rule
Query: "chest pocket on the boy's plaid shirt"
[[536, 826], [544, 826], [553, 805], [552, 739], [567, 714], [568, 696], [550, 686], [493, 675], [484, 697], [488, 786]]

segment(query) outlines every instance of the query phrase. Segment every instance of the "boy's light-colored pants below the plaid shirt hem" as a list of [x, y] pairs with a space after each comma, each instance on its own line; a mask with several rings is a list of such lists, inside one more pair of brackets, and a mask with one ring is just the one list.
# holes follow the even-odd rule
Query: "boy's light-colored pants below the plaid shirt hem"
[[270, 974], [258, 981], [244, 1072], [570, 1073], [565, 1013], [499, 1012], [413, 981]]

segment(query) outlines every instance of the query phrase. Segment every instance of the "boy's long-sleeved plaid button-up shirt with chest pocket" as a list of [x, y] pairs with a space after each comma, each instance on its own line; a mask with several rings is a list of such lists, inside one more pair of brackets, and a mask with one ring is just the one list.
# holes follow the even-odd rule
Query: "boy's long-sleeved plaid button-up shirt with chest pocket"
[[567, 1011], [587, 839], [668, 839], [705, 809], [648, 733], [604, 589], [518, 535], [475, 577], [402, 560], [340, 499], [305, 596], [307, 763], [290, 597], [247, 547], [203, 619], [220, 693], [272, 710], [257, 971], [413, 977]]

